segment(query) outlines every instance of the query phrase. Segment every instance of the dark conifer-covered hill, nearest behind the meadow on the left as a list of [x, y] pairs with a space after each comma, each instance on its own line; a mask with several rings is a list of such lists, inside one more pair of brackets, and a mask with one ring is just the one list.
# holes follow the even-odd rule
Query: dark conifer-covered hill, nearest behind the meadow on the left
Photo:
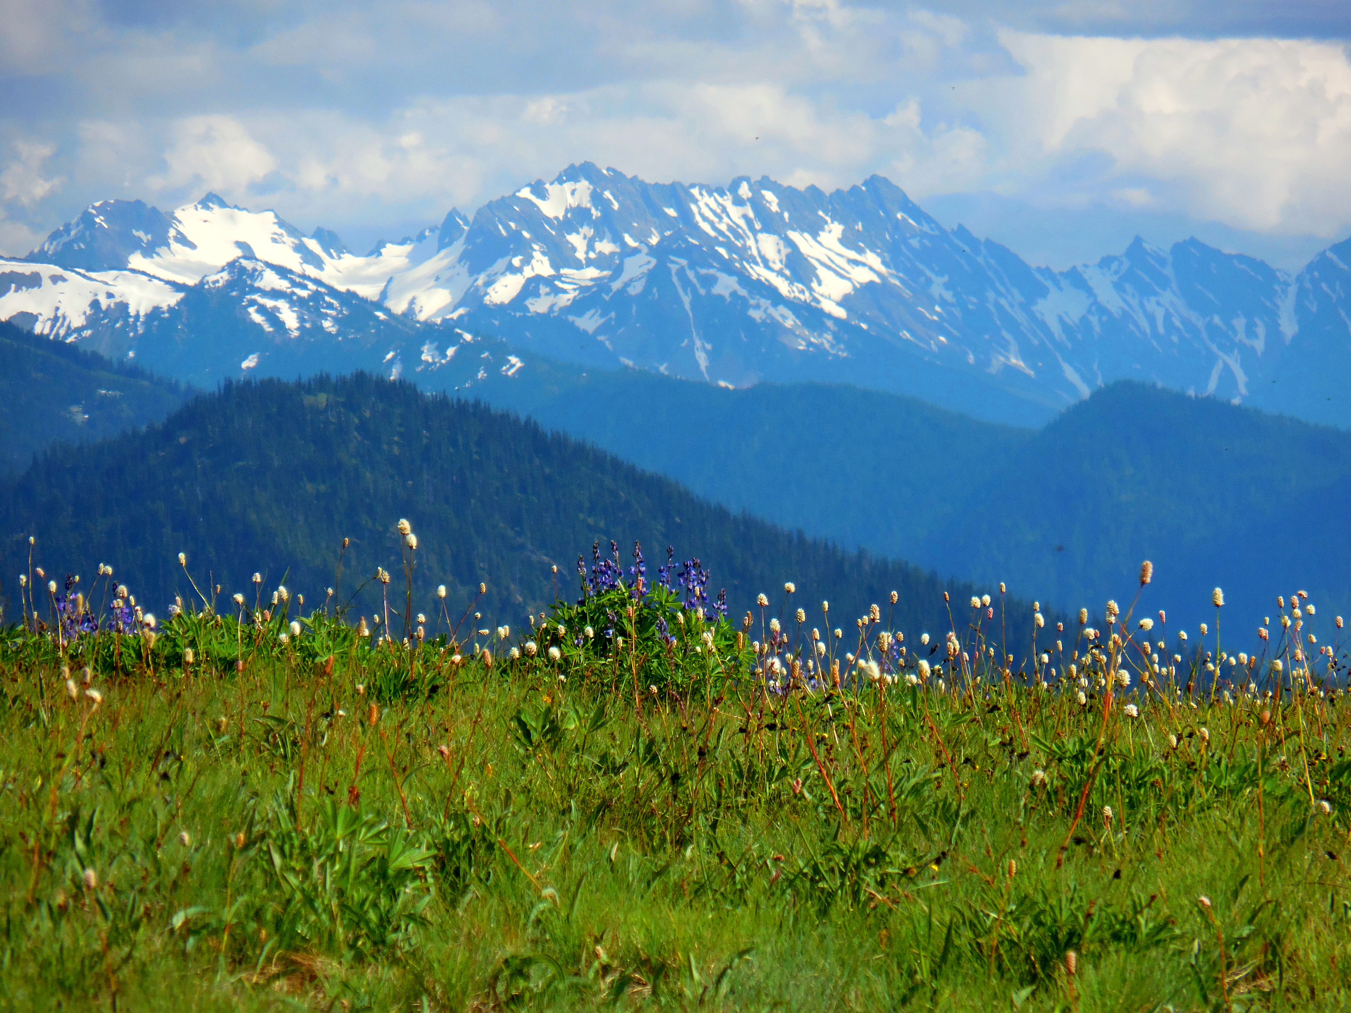
[[399, 579], [400, 517], [420, 538], [427, 612], [436, 583], [462, 609], [484, 581], [481, 611], [516, 624], [551, 600], [551, 565], [570, 596], [578, 554], [613, 538], [627, 565], [636, 538], [650, 579], [671, 544], [703, 559], [738, 612], [759, 592], [777, 612], [784, 582], [796, 581], [811, 624], [821, 624], [823, 598], [832, 623], [848, 627], [893, 589], [907, 628], [947, 623], [947, 585], [916, 567], [734, 516], [532, 423], [369, 375], [231, 384], [145, 432], [49, 452], [0, 488], [0, 573], [23, 569], [35, 535], [49, 575], [88, 578], [105, 562], [147, 602], [190, 596], [184, 551], [199, 582], [220, 583], [227, 598], [251, 592], [258, 570], [270, 583], [285, 574], [313, 604], [334, 585], [343, 538], [353, 539], [345, 594], [376, 566]]

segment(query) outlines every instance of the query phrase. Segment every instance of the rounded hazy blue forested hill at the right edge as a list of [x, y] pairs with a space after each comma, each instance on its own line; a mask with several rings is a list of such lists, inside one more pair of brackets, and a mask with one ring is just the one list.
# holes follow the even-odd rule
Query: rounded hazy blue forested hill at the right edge
[[977, 581], [1101, 608], [1156, 566], [1151, 608], [1269, 613], [1306, 589], [1351, 611], [1351, 435], [1213, 398], [1115, 384], [1017, 447], [963, 497], [929, 555]]

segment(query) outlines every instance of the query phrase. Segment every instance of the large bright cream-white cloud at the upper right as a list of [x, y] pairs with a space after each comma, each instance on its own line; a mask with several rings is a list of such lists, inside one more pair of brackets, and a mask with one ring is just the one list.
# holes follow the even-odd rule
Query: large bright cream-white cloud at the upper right
[[[1239, 228], [1333, 236], [1351, 224], [1351, 62], [1278, 39], [1092, 39], [1005, 32], [1021, 77], [973, 86], [1021, 174], [1098, 153], [1132, 193]], [[1161, 185], [1121, 189], [1113, 178]], [[1152, 193], [1151, 193], [1152, 192]], [[1139, 201], [1136, 201], [1139, 203]]]

